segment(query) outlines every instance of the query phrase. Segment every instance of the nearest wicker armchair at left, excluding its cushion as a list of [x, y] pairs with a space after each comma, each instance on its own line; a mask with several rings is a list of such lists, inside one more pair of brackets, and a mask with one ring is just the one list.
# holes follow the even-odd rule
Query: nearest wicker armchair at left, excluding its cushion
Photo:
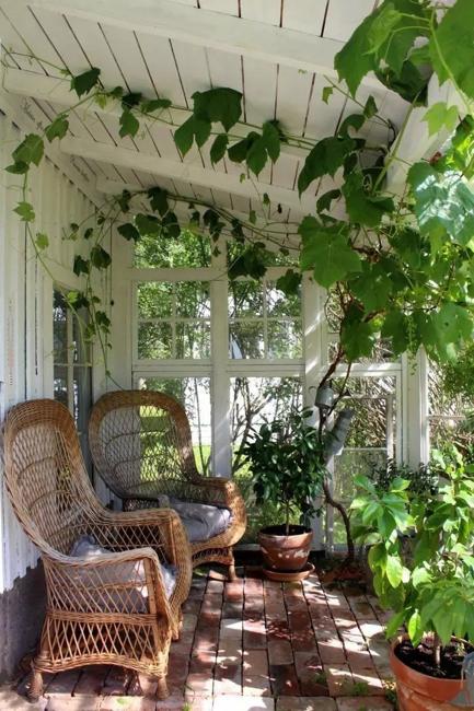
[[[30, 697], [44, 672], [116, 664], [158, 679], [167, 696], [171, 639], [192, 578], [190, 550], [174, 511], [113, 513], [97, 501], [84, 469], [74, 423], [54, 400], [13, 407], [4, 426], [4, 473], [13, 509], [39, 548], [47, 611], [32, 663]], [[70, 556], [81, 535], [113, 552]], [[166, 595], [160, 562], [176, 567]]]

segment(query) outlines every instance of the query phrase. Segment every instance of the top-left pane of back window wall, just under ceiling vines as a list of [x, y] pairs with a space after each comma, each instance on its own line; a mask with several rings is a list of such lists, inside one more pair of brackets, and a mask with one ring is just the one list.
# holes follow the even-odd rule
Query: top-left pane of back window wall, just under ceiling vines
[[141, 237], [135, 246], [136, 267], [209, 267], [210, 240], [183, 230], [176, 240], [157, 235]]

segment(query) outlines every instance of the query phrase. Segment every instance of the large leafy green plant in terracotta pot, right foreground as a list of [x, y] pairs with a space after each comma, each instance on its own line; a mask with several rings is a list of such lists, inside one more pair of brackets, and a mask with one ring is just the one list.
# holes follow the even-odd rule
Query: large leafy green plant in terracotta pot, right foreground
[[[444, 466], [439, 490], [423, 496], [395, 478], [381, 491], [357, 477], [357, 537], [371, 544], [375, 594], [393, 610], [391, 666], [402, 711], [473, 708], [463, 665], [474, 651], [474, 466]], [[403, 535], [412, 535], [406, 550]], [[455, 701], [455, 706], [453, 702]]]

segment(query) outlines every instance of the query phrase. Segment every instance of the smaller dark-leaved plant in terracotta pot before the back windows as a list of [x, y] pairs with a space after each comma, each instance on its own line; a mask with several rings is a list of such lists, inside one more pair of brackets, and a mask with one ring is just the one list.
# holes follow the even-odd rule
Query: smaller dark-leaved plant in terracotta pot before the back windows
[[[323, 447], [309, 423], [312, 409], [293, 411], [287, 419], [263, 424], [244, 447], [253, 473], [256, 504], [271, 501], [281, 522], [258, 534], [265, 572], [280, 580], [308, 574], [313, 533], [308, 526], [324, 477]], [[297, 517], [300, 523], [291, 523]]]

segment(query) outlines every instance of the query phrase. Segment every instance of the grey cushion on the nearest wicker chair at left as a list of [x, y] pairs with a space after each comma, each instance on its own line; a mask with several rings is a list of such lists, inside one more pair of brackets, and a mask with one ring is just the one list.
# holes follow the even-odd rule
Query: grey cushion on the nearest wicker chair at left
[[[93, 536], [88, 536], [83, 534], [72, 545], [70, 550], [70, 556], [74, 558], [97, 558], [103, 553], [113, 552], [108, 548], [102, 548], [95, 540]], [[166, 597], [170, 598], [176, 587], [176, 574], [177, 569], [175, 566], [170, 566], [167, 563], [160, 562], [161, 574], [163, 576], [164, 590]], [[114, 566], [112, 568], [103, 569], [102, 573], [103, 580], [109, 585], [114, 583], [117, 585], [130, 585], [139, 592], [142, 597], [148, 597], [148, 591], [146, 586], [146, 576], [143, 563], [139, 562], [127, 562]]]

